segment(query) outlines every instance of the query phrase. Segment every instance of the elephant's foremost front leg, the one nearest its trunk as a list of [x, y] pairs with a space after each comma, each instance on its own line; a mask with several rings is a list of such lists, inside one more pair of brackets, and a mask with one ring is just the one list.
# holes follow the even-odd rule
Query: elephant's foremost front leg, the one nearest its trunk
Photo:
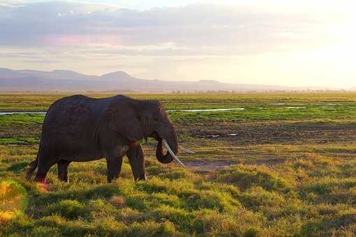
[[135, 181], [145, 180], [146, 174], [144, 171], [144, 154], [142, 146], [139, 144], [138, 146], [130, 148], [126, 155], [130, 162]]

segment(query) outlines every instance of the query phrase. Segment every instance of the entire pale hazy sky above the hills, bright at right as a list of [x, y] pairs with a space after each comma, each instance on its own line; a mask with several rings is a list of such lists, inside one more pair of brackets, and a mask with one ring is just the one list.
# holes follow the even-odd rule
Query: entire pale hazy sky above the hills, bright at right
[[342, 0], [0, 0], [0, 67], [350, 88], [355, 7]]

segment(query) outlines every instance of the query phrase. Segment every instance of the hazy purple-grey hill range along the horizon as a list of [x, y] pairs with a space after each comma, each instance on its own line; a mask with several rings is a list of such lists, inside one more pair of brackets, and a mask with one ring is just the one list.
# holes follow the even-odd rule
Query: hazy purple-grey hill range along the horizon
[[0, 91], [306, 91], [324, 87], [292, 87], [256, 84], [228, 84], [215, 80], [171, 82], [138, 79], [118, 71], [102, 76], [84, 75], [71, 70], [11, 70], [0, 68]]

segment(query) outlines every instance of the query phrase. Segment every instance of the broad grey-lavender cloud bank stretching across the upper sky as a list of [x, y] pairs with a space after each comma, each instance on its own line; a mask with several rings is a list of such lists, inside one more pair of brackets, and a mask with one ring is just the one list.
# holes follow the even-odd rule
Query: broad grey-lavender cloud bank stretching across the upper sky
[[[315, 40], [313, 32], [320, 24], [306, 15], [239, 6], [189, 5], [141, 11], [64, 1], [25, 3], [0, 6], [0, 45], [111, 45], [112, 52], [128, 55], [238, 55], [291, 45], [305, 47]], [[164, 47], [167, 43], [175, 47]]]

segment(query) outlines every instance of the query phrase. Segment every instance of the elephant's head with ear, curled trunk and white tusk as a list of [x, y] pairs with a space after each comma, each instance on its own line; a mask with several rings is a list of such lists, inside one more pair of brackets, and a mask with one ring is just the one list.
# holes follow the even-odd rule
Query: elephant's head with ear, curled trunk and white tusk
[[[147, 137], [156, 139], [156, 158], [159, 162], [168, 164], [176, 159], [183, 165], [176, 156], [179, 146], [175, 128], [160, 102], [114, 97], [106, 114], [109, 127], [130, 142], [139, 142]], [[168, 149], [166, 154], [163, 154], [163, 144]]]

